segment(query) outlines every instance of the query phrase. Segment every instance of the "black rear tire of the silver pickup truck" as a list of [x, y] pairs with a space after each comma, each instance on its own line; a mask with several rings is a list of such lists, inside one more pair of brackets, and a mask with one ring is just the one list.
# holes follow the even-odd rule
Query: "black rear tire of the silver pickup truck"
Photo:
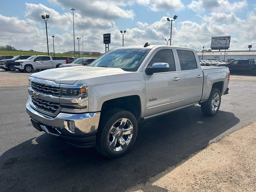
[[[219, 96], [218, 106], [214, 105], [212, 106], [212, 101], [214, 100], [216, 94]], [[216, 101], [216, 100], [215, 100]], [[208, 100], [206, 102], [201, 103], [201, 110], [202, 112], [207, 116], [214, 116], [218, 112], [220, 108], [220, 102], [221, 102], [221, 94], [220, 90], [213, 88]]]

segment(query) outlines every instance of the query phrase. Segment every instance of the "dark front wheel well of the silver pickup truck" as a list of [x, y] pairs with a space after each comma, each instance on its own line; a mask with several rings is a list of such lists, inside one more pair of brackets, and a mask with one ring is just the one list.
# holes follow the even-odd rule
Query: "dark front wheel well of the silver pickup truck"
[[141, 104], [140, 97], [138, 95], [126, 96], [111, 99], [105, 101], [102, 104], [102, 111], [109, 110], [111, 108], [120, 108], [130, 111], [137, 120], [140, 120], [141, 116]]

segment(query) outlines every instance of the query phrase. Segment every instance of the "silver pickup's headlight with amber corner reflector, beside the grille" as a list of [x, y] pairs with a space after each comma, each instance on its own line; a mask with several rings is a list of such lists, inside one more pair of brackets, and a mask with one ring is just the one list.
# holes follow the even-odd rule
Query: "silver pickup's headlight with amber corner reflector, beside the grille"
[[87, 85], [60, 85], [60, 105], [64, 108], [87, 108]]

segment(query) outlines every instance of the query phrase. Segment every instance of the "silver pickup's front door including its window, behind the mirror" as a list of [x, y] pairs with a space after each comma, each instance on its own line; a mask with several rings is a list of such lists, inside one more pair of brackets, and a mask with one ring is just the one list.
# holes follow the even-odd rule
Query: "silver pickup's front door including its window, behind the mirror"
[[159, 114], [178, 108], [180, 100], [180, 72], [171, 48], [157, 49], [146, 64], [168, 63], [169, 71], [147, 75], [143, 72], [146, 82], [146, 116]]

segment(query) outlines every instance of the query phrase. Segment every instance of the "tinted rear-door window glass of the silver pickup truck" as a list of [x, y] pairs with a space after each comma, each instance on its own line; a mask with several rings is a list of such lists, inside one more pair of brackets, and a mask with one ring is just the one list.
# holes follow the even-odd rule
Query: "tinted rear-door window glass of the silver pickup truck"
[[196, 58], [192, 51], [177, 50], [182, 71], [197, 69]]

